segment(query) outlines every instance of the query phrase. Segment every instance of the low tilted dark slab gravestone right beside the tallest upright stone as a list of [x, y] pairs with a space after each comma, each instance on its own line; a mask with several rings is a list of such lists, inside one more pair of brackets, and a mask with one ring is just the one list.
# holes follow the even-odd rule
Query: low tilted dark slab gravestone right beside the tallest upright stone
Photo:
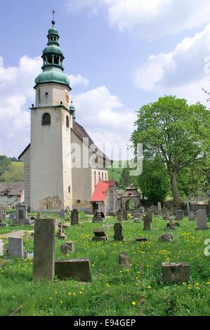
[[61, 280], [72, 277], [79, 282], [91, 282], [90, 259], [55, 260], [55, 276]]

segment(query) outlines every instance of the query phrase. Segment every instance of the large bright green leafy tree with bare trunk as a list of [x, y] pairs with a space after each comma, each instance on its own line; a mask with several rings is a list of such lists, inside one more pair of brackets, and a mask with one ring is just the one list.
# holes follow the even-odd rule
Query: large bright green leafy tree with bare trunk
[[134, 147], [143, 143], [146, 158], [159, 155], [171, 182], [173, 202], [181, 202], [177, 177], [209, 154], [210, 112], [204, 105], [188, 105], [185, 99], [164, 96], [138, 111]]

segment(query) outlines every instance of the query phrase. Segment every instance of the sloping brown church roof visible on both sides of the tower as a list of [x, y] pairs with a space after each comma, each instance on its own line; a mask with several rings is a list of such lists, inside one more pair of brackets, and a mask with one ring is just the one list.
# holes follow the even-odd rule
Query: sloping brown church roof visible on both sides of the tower
[[[74, 132], [74, 134], [81, 140], [83, 141], [84, 138], [88, 139], [88, 147], [91, 147], [91, 149], [96, 152], [98, 157], [101, 157], [103, 159], [107, 159], [108, 161], [111, 161], [111, 159], [109, 157], [107, 157], [102, 151], [100, 151], [100, 149], [98, 149], [98, 147], [95, 145], [95, 143], [93, 142], [93, 140], [91, 139], [91, 137], [88, 135], [88, 133], [86, 132], [86, 130], [84, 129], [83, 126], [79, 125], [76, 121], [74, 121], [73, 123], [73, 128], [72, 131]], [[20, 159], [23, 154], [25, 154], [25, 152], [29, 149], [31, 144], [29, 144], [25, 150], [23, 150], [22, 154], [20, 154], [20, 156], [18, 157], [18, 159]], [[96, 151], [97, 150], [97, 151]]]

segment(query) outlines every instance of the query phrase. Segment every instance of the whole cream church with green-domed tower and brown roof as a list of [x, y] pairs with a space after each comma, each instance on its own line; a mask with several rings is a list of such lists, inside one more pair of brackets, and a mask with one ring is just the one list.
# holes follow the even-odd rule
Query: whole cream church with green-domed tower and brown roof
[[[25, 204], [32, 211], [60, 211], [68, 207], [92, 213], [102, 201], [91, 197], [96, 196], [99, 183], [101, 190], [101, 183], [110, 183], [108, 167], [112, 161], [76, 121], [60, 36], [54, 20], [52, 24], [41, 56], [42, 72], [35, 79], [36, 101], [30, 108], [31, 143], [19, 156], [24, 162]], [[113, 182], [109, 187], [113, 187]], [[105, 206], [101, 211], [105, 211]]]

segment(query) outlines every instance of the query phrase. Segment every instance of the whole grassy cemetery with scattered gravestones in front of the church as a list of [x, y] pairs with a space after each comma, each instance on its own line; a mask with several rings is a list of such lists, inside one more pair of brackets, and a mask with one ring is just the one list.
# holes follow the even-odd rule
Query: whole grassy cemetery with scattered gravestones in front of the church
[[70, 225], [70, 213], [65, 220], [59, 213], [28, 213], [34, 224], [12, 225], [6, 211], [1, 315], [19, 306], [18, 315], [209, 315], [204, 242], [210, 231], [201, 213], [197, 220], [181, 217], [172, 234], [169, 220], [151, 219], [150, 212], [138, 223], [133, 216], [94, 223], [79, 212], [77, 225]]

